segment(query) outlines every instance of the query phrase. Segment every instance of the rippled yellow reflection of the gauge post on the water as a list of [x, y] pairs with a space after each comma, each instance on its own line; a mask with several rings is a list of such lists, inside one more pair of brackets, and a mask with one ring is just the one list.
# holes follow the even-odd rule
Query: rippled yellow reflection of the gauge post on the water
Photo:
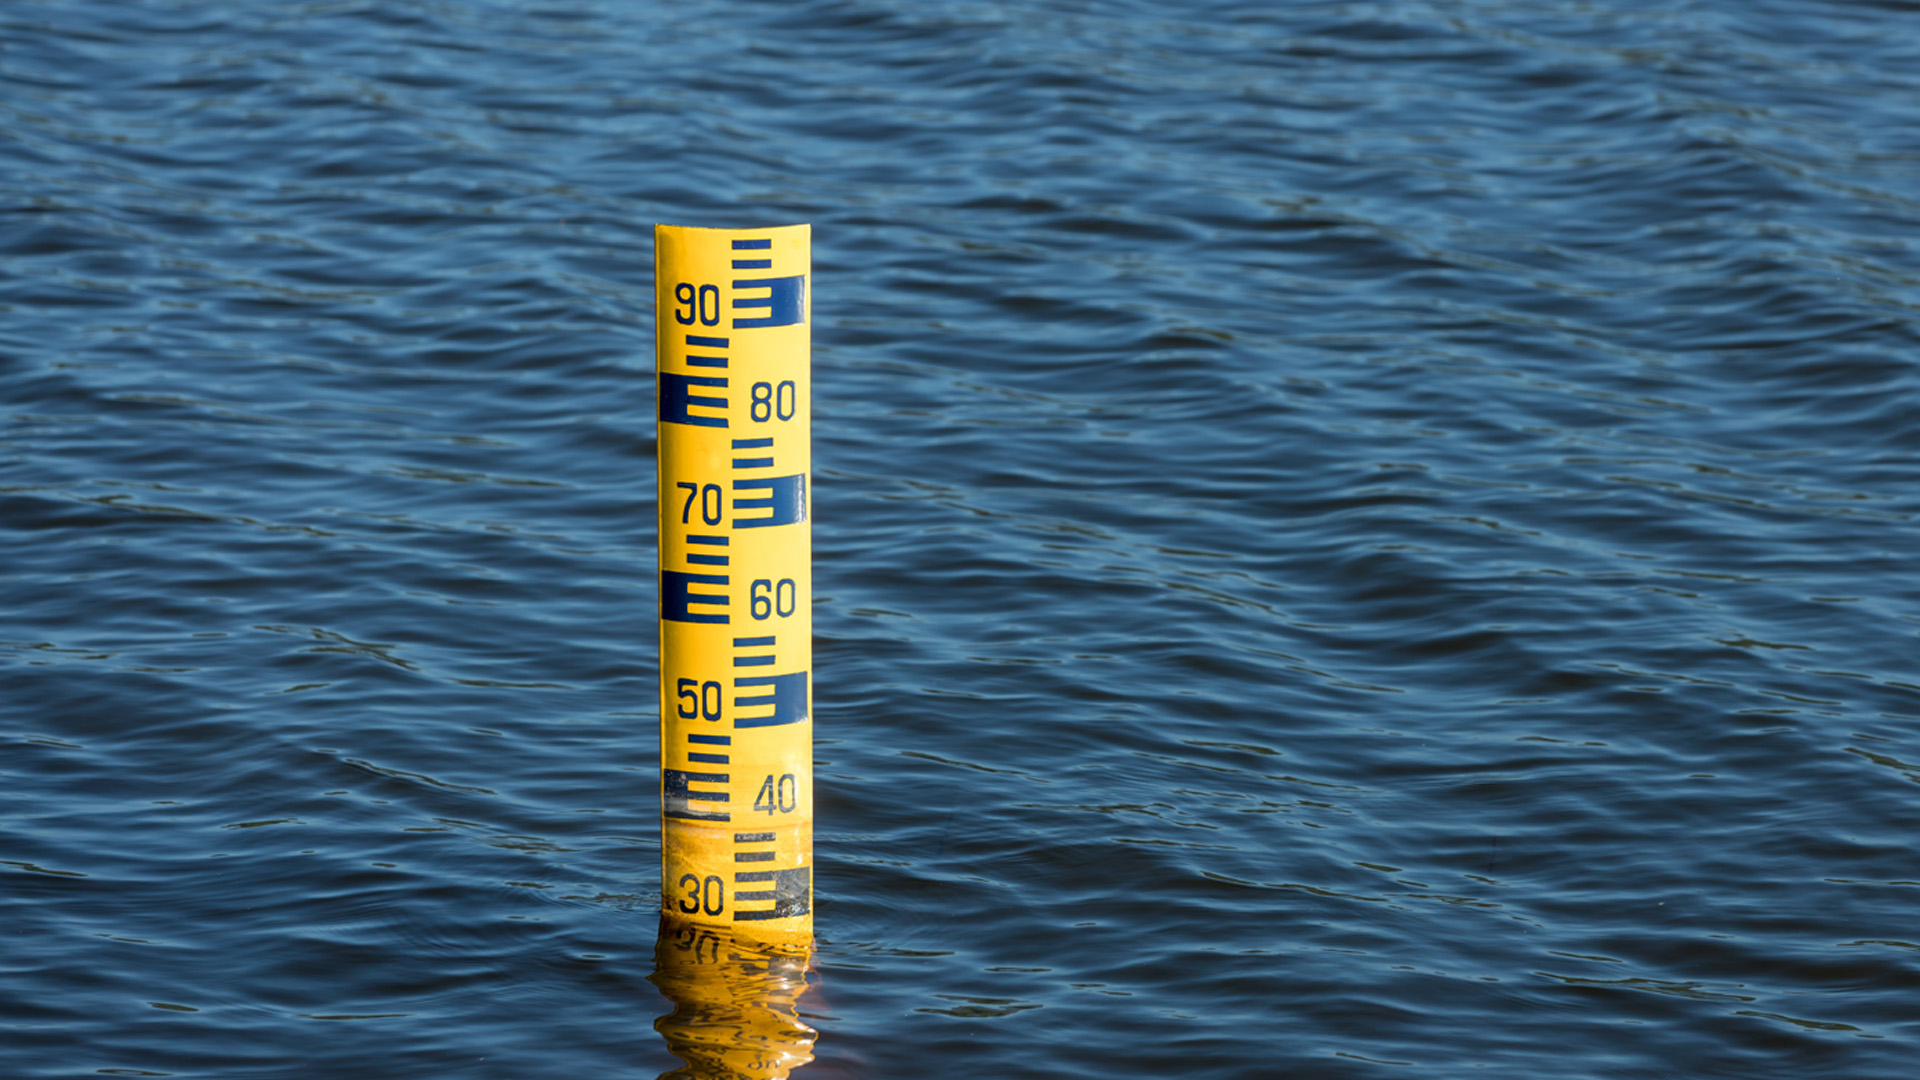
[[801, 1022], [812, 949], [770, 949], [726, 930], [660, 920], [649, 980], [674, 1003], [653, 1022], [685, 1067], [660, 1080], [781, 1080], [814, 1059]]

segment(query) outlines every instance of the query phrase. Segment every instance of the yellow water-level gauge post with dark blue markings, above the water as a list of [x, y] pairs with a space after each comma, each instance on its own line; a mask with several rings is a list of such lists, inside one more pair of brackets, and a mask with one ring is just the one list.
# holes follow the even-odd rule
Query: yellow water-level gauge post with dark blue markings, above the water
[[814, 930], [812, 231], [655, 225], [660, 903]]

